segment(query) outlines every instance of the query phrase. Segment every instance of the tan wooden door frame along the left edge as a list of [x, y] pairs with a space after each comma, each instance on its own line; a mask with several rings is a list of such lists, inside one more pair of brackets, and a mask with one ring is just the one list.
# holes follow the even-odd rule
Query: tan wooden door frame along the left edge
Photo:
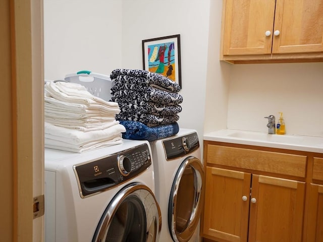
[[43, 0], [4, 0], [0, 6], [6, 106], [0, 228], [6, 241], [42, 241], [44, 219], [33, 218], [33, 198], [44, 194]]

